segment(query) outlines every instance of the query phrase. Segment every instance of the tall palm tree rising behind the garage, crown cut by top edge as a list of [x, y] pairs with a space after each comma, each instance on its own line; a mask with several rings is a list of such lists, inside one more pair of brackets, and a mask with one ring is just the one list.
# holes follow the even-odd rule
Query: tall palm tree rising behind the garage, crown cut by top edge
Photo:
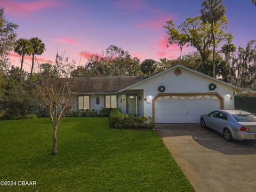
[[210, 23], [211, 25], [211, 34], [213, 41], [213, 53], [212, 53], [212, 63], [213, 63], [213, 77], [216, 77], [215, 74], [215, 36], [214, 36], [214, 25], [218, 22], [223, 15], [225, 15], [226, 7], [221, 4], [222, 0], [204, 0], [202, 3], [201, 19], [204, 23]]

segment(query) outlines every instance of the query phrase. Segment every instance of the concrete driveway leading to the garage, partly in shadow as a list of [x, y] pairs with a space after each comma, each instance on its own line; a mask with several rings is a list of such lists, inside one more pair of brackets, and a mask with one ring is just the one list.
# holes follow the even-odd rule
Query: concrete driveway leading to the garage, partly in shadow
[[196, 191], [256, 191], [256, 142], [227, 142], [199, 124], [157, 124]]

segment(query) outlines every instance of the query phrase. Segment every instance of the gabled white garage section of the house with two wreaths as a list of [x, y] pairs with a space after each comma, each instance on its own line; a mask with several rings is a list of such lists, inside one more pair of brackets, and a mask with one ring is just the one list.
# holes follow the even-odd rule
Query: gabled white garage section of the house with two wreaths
[[233, 110], [243, 89], [184, 66], [174, 66], [123, 90], [138, 91], [139, 111], [155, 123], [199, 123], [202, 114]]

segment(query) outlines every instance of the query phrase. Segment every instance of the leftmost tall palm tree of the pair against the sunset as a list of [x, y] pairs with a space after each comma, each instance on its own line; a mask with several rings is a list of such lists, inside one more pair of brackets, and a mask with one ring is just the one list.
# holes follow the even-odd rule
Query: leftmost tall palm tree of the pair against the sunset
[[14, 46], [14, 52], [21, 55], [21, 66], [20, 66], [20, 84], [22, 84], [22, 68], [24, 62], [24, 55], [30, 55], [32, 52], [32, 44], [26, 38], [20, 38], [17, 40]]

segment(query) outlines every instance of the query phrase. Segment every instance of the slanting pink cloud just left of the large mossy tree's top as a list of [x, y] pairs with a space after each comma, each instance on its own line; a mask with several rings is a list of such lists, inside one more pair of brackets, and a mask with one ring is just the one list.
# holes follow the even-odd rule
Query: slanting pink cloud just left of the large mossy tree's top
[[152, 30], [158, 30], [162, 29], [163, 25], [165, 25], [166, 21], [169, 21], [170, 19], [173, 19], [173, 15], [170, 14], [163, 14], [161, 16], [158, 16], [157, 18], [150, 19], [145, 22], [139, 23], [136, 27], [138, 28], [150, 28]]

